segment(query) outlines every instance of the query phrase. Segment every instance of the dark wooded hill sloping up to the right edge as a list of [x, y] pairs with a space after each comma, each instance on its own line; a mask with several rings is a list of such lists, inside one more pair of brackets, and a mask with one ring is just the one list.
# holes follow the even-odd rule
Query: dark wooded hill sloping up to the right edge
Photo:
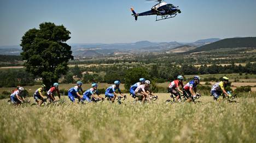
[[208, 45], [195, 48], [189, 51], [189, 53], [210, 51], [210, 50], [219, 49], [219, 48], [242, 48], [242, 47], [256, 48], [256, 37], [223, 39], [217, 42], [210, 43]]

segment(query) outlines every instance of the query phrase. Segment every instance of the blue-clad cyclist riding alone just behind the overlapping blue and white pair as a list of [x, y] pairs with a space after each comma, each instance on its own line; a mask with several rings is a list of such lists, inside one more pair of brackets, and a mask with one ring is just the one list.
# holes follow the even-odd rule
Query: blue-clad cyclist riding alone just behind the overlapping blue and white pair
[[115, 80], [114, 85], [111, 85], [106, 89], [105, 96], [108, 97], [112, 101], [112, 103], [114, 103], [115, 98], [117, 98], [118, 96], [117, 93], [115, 93], [115, 90], [118, 90], [119, 94], [124, 97], [124, 94], [122, 94], [119, 85], [120, 81]]

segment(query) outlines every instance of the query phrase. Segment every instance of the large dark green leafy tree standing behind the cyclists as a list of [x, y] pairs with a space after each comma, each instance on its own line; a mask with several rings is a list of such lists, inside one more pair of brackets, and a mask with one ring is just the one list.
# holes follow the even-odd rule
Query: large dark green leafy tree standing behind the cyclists
[[71, 46], [66, 41], [71, 34], [64, 26], [45, 22], [39, 29], [28, 30], [22, 36], [22, 59], [34, 76], [42, 77], [48, 88], [68, 71], [68, 60], [73, 59]]

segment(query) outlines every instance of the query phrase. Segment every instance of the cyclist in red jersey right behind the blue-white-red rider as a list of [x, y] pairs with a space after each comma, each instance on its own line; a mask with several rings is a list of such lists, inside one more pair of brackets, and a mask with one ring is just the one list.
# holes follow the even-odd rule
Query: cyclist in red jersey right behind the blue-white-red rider
[[183, 88], [183, 76], [178, 76], [176, 80], [173, 80], [169, 85], [168, 85], [168, 92], [172, 93], [173, 95], [176, 96], [175, 101], [181, 101], [180, 98], [180, 93], [183, 94], [183, 91], [179, 89], [179, 85], [182, 86]]

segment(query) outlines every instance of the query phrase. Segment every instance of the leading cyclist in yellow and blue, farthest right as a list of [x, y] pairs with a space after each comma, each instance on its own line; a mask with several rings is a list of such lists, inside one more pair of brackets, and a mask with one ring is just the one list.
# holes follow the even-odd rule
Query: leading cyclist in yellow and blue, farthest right
[[225, 87], [228, 84], [228, 82], [229, 78], [223, 77], [221, 82], [218, 82], [212, 86], [211, 95], [213, 96], [213, 100], [218, 100], [219, 96], [222, 94], [224, 94], [226, 97], [232, 96], [225, 90]]

